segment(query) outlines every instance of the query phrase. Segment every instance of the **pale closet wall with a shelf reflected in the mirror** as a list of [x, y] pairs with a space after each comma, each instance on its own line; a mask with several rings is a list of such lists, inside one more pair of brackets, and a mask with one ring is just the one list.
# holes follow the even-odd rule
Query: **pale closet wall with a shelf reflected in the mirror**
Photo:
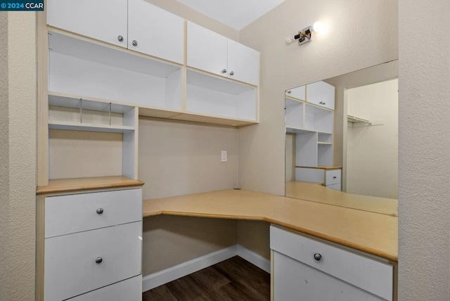
[[398, 79], [348, 89], [347, 193], [398, 197]]

